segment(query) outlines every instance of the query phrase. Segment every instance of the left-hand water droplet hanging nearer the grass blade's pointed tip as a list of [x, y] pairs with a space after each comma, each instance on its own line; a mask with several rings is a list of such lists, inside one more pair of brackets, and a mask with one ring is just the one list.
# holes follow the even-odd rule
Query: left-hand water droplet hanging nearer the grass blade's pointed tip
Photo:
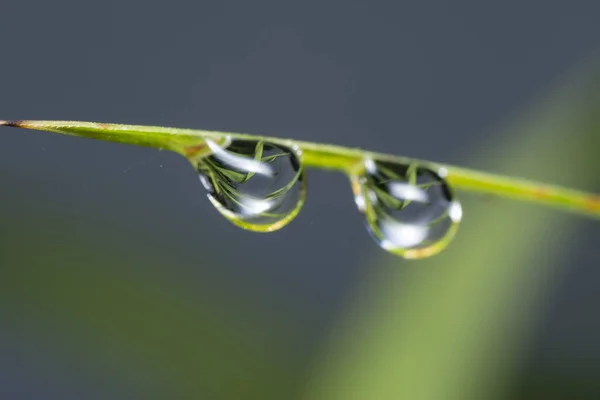
[[300, 152], [279, 144], [228, 139], [206, 140], [209, 155], [200, 158], [200, 180], [212, 204], [244, 229], [272, 232], [300, 211], [306, 195]]

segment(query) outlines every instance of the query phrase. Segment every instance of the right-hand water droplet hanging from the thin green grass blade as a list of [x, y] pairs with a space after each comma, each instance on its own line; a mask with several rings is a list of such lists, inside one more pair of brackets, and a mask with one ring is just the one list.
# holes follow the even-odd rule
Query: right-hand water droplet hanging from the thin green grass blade
[[424, 258], [448, 245], [462, 208], [443, 175], [417, 164], [368, 159], [364, 172], [351, 177], [356, 204], [381, 247], [404, 258]]

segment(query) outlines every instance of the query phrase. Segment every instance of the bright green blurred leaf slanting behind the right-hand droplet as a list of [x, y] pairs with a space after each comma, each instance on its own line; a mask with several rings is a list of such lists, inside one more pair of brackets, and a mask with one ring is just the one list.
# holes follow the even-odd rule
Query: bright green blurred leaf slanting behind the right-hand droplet
[[[574, 187], [598, 183], [600, 85], [579, 75], [477, 165]], [[373, 268], [359, 306], [334, 332], [311, 400], [504, 398], [535, 311], [581, 219], [504, 199], [467, 197], [455, 241], [415, 262]], [[381, 263], [379, 263], [381, 264]]]

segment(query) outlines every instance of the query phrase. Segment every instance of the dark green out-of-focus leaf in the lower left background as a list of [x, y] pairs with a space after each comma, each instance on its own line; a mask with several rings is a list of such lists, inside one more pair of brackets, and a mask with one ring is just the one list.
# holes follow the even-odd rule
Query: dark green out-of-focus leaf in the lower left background
[[18, 315], [11, 329], [56, 368], [79, 366], [152, 398], [282, 398], [294, 390], [287, 343], [269, 316], [231, 298], [230, 283], [207, 275], [185, 285], [153, 260], [128, 260], [126, 247], [106, 251], [98, 238], [104, 245], [90, 249], [53, 233], [19, 264], [3, 265], [0, 304]]

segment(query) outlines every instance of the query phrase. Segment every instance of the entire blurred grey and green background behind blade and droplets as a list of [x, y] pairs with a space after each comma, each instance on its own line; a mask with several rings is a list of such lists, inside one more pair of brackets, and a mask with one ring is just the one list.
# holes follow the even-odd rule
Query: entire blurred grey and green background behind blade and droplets
[[[0, 118], [248, 132], [600, 192], [600, 3], [5, 2]], [[460, 193], [371, 240], [308, 171], [243, 231], [174, 153], [1, 130], [2, 399], [597, 399], [600, 223]]]

